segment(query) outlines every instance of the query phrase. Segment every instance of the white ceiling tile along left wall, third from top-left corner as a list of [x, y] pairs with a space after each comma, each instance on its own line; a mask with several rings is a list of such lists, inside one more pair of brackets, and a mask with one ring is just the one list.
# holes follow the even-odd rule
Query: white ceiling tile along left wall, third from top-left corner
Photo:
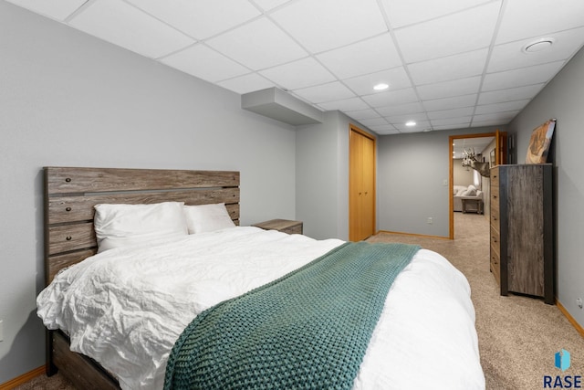
[[171, 56], [162, 58], [161, 62], [211, 82], [249, 73], [249, 69], [202, 44], [185, 48]]

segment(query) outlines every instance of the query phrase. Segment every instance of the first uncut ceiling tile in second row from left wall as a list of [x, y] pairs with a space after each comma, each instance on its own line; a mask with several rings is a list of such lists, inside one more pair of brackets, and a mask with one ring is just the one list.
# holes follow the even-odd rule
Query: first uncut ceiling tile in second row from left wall
[[254, 70], [272, 68], [308, 55], [265, 17], [208, 39], [206, 43]]

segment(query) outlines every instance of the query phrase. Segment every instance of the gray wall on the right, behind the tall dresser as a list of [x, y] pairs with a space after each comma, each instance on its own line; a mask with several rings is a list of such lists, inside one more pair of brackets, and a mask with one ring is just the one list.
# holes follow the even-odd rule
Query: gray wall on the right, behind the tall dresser
[[517, 163], [525, 163], [531, 132], [551, 118], [558, 120], [550, 157], [555, 165], [558, 300], [584, 327], [584, 49], [508, 126], [516, 135]]

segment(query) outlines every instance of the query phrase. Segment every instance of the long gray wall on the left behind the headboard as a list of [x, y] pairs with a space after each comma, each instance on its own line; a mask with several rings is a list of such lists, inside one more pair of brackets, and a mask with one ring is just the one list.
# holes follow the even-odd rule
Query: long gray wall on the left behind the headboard
[[211, 86], [0, 1], [0, 384], [44, 364], [45, 165], [241, 171], [241, 223], [295, 218], [296, 132]]

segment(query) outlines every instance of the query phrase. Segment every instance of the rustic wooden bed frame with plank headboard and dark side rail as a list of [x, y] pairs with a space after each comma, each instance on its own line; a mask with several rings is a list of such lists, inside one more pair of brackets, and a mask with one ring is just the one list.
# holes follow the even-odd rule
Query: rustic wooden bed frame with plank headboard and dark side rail
[[[93, 206], [100, 203], [224, 203], [239, 225], [239, 172], [45, 167], [44, 174], [47, 284], [60, 269], [97, 253]], [[47, 331], [46, 368], [47, 375], [59, 370], [78, 388], [120, 388], [95, 361], [71, 352], [60, 331]]]

